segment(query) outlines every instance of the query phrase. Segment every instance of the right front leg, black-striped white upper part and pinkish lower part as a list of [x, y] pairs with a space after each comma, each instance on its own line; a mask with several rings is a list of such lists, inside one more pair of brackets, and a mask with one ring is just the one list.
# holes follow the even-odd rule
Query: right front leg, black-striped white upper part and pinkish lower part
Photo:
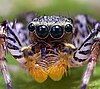
[[86, 89], [90, 77], [94, 71], [100, 54], [100, 23], [97, 23], [92, 32], [87, 36], [83, 44], [75, 51], [71, 60], [73, 64], [83, 65], [88, 62], [87, 69], [83, 75], [81, 89]]

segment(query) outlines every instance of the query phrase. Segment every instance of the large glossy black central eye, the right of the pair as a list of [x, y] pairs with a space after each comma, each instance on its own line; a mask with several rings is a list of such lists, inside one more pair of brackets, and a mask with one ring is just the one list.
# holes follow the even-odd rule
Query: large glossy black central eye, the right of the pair
[[59, 25], [55, 25], [51, 28], [50, 34], [53, 38], [60, 38], [63, 35], [63, 28]]

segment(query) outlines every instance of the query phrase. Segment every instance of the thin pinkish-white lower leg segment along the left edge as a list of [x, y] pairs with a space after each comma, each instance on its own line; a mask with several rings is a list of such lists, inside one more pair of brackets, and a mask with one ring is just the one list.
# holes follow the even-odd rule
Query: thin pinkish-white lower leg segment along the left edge
[[5, 45], [5, 27], [0, 23], [0, 71], [5, 80], [7, 89], [13, 89], [10, 74], [6, 64], [6, 45]]

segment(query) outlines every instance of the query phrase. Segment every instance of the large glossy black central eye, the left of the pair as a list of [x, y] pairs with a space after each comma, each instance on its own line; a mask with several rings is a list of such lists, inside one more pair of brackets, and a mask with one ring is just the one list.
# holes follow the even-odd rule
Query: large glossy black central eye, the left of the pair
[[37, 34], [37, 36], [40, 37], [40, 38], [45, 38], [45, 37], [48, 36], [48, 34], [49, 34], [48, 27], [45, 26], [45, 25], [37, 26], [36, 34]]

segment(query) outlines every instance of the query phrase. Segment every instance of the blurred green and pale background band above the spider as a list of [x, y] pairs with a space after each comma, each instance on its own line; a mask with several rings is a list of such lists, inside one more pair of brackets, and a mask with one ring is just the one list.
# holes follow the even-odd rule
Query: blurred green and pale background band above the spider
[[[94, 0], [0, 0], [0, 16], [3, 19], [13, 19], [19, 13], [33, 11], [40, 15], [88, 14], [99, 18], [99, 5]], [[94, 6], [92, 5], [94, 3]], [[2, 20], [2, 18], [1, 18]]]

